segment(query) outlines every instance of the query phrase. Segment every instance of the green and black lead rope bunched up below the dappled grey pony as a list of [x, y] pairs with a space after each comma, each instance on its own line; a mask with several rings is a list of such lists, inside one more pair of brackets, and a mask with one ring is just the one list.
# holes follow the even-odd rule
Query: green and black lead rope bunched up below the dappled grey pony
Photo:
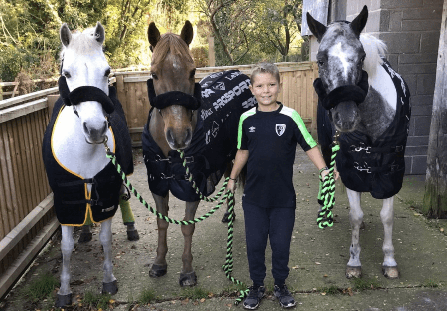
[[331, 154], [331, 164], [329, 167], [329, 174], [327, 174], [324, 179], [320, 176], [320, 192], [321, 200], [323, 201], [323, 207], [320, 212], [318, 212], [317, 225], [319, 228], [332, 227], [333, 214], [332, 208], [335, 203], [335, 178], [334, 178], [334, 167], [335, 167], [335, 156], [337, 151], [340, 150], [340, 145], [337, 141], [338, 132], [334, 136], [334, 142], [332, 143], [332, 154]]

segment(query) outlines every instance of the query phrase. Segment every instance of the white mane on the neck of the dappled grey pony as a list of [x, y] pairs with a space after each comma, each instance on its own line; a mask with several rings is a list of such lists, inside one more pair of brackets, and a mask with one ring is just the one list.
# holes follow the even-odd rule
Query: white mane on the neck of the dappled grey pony
[[368, 75], [373, 76], [377, 70], [377, 65], [383, 63], [382, 57], [384, 57], [387, 52], [386, 44], [370, 34], [361, 34], [360, 42], [362, 43], [363, 50], [366, 54], [363, 68], [368, 72]]

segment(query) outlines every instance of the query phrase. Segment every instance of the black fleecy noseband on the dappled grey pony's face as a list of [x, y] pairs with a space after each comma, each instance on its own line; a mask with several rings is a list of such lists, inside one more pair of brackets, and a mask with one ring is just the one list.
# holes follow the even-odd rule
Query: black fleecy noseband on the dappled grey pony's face
[[354, 101], [357, 105], [363, 103], [368, 94], [368, 73], [362, 70], [362, 77], [357, 85], [344, 85], [333, 89], [326, 94], [321, 78], [313, 81], [313, 87], [318, 94], [321, 104], [327, 110], [334, 108], [341, 102]]

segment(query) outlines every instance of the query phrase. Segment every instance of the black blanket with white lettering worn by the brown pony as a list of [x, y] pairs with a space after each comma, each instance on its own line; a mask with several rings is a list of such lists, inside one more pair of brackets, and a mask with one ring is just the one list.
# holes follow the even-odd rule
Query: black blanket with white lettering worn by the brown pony
[[[237, 151], [237, 126], [241, 114], [256, 105], [248, 86], [250, 79], [238, 70], [213, 73], [200, 81], [201, 106], [190, 146], [184, 150], [187, 166], [199, 190], [208, 196], [224, 174], [226, 164]], [[148, 124], [152, 113], [149, 112]], [[154, 142], [148, 124], [142, 134], [143, 155], [152, 193], [165, 197], [168, 191], [182, 201], [200, 199], [186, 178], [179, 152], [168, 159]]]

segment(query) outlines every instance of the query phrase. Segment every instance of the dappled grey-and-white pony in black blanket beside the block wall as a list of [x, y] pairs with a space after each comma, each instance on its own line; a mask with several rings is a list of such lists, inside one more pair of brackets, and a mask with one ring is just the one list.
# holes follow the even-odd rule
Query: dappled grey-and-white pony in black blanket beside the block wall
[[392, 242], [393, 203], [405, 172], [410, 93], [384, 59], [385, 44], [360, 34], [367, 18], [364, 6], [351, 23], [340, 21], [326, 27], [307, 13], [309, 29], [320, 43], [320, 78], [314, 82], [319, 96], [318, 140], [328, 163], [332, 136], [335, 131], [340, 133], [336, 163], [347, 188], [352, 228], [346, 277], [361, 276], [359, 228], [364, 213], [360, 197], [370, 192], [383, 200], [383, 274], [396, 279], [400, 274]]

